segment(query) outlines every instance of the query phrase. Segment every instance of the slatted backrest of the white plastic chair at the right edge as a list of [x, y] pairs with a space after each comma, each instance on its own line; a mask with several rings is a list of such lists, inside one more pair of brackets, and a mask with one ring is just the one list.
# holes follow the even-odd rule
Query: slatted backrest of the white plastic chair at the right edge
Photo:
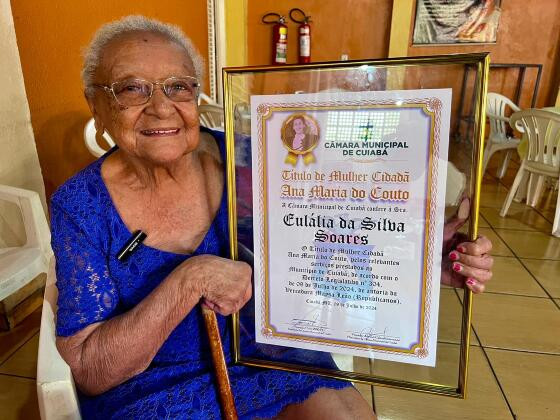
[[522, 128], [527, 136], [529, 162], [560, 167], [560, 114], [542, 109], [525, 109], [510, 117], [511, 127]]

